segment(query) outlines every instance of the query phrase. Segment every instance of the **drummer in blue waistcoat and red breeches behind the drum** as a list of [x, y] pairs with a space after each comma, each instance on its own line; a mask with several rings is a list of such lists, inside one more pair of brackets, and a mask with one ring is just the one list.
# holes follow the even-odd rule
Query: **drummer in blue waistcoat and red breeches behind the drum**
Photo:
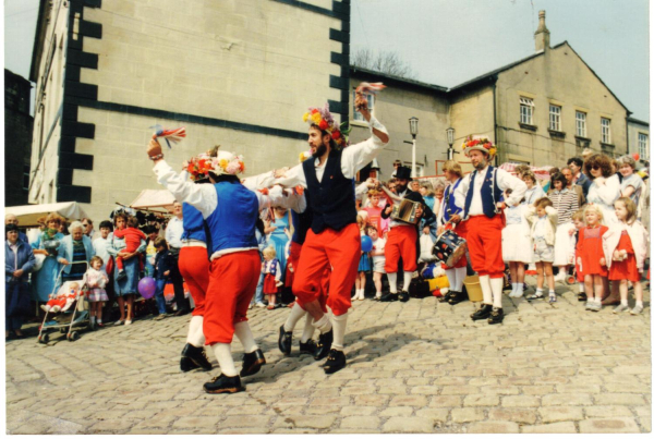
[[[448, 160], [443, 164], [445, 179], [449, 182], [445, 188], [443, 203], [438, 210], [438, 229], [436, 233], [440, 235], [446, 230], [453, 230], [459, 236], [465, 239], [465, 221], [461, 222], [462, 207], [457, 205], [455, 199], [455, 191], [461, 184], [461, 166], [453, 160]], [[452, 267], [445, 265], [445, 275], [449, 281], [449, 292], [444, 296], [443, 302], [448, 302], [450, 305], [456, 305], [465, 300], [463, 294], [463, 279], [465, 279], [468, 259], [465, 255], [461, 257]]]

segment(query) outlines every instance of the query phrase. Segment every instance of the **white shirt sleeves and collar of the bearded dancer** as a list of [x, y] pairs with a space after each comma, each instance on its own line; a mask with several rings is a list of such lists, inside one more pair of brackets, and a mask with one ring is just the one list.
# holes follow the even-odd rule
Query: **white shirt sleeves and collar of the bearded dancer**
[[[375, 129], [388, 134], [386, 126], [379, 123], [375, 118], [371, 118], [368, 126], [371, 129], [371, 137], [367, 141], [343, 148], [343, 154], [341, 156], [341, 172], [346, 179], [353, 179], [356, 176], [356, 172], [377, 157], [379, 150], [386, 145], [373, 132], [373, 129]], [[325, 160], [322, 166], [319, 159], [315, 159], [314, 161], [316, 167], [316, 178], [319, 182], [323, 181], [327, 160]], [[298, 185], [306, 187], [306, 176], [304, 175], [302, 163], [289, 169], [284, 176], [277, 179], [275, 182], [286, 187], [294, 187]]]

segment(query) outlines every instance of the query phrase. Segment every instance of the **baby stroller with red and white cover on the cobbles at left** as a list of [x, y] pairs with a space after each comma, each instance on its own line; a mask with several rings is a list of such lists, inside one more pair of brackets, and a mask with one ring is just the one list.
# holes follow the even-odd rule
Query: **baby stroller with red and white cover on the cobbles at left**
[[[88, 263], [86, 260], [70, 264], [84, 264], [88, 270]], [[51, 301], [48, 301], [47, 305], [41, 306], [46, 312], [46, 316], [38, 328], [37, 341], [39, 343], [48, 343], [50, 341], [49, 332], [53, 329], [59, 329], [59, 332], [65, 333], [68, 341], [80, 340], [80, 333], [73, 330], [73, 328], [80, 329], [81, 327], [88, 327], [90, 324], [86, 301], [86, 296], [88, 295], [86, 277], [81, 280], [63, 282], [58, 289], [57, 284], [61, 281], [63, 268], [59, 270], [57, 282], [55, 282], [55, 288], [49, 296]], [[73, 283], [77, 284], [78, 288], [76, 290], [72, 288], [74, 286]], [[47, 321], [48, 315], [51, 314], [58, 314], [58, 316]]]

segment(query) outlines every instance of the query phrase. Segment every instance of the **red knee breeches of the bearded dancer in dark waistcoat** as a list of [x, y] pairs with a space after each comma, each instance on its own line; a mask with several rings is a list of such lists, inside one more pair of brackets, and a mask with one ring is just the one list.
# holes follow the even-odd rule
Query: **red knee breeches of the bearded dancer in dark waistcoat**
[[[356, 224], [340, 231], [325, 229], [319, 234], [306, 233], [302, 246], [293, 294], [300, 304], [319, 301], [325, 286], [325, 273], [329, 277], [327, 306], [335, 316], [343, 315], [352, 306], [350, 294], [361, 258], [361, 234]], [[303, 309], [306, 309], [302, 306]]]

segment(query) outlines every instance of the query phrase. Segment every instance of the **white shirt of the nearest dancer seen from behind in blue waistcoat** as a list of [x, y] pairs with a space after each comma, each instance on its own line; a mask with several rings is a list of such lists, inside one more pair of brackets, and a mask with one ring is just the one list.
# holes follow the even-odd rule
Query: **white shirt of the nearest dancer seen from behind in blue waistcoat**
[[[174, 198], [180, 203], [189, 203], [202, 214], [204, 219], [207, 219], [218, 207], [218, 194], [213, 184], [195, 184], [185, 181], [182, 175], [174, 170], [166, 161], [161, 160], [153, 168], [157, 175], [157, 181], [164, 187], [172, 193]], [[263, 195], [258, 191], [253, 191], [258, 200], [258, 209], [271, 206], [281, 206], [288, 208], [289, 198], [281, 191], [270, 191], [269, 195]], [[169, 224], [170, 225], [170, 224]], [[168, 232], [168, 230], [167, 230]], [[181, 234], [180, 234], [181, 236]], [[166, 236], [168, 239], [168, 235]], [[211, 255], [211, 260], [228, 253], [246, 252], [250, 249], [258, 249], [258, 246], [243, 248], [228, 248], [215, 252]]]

